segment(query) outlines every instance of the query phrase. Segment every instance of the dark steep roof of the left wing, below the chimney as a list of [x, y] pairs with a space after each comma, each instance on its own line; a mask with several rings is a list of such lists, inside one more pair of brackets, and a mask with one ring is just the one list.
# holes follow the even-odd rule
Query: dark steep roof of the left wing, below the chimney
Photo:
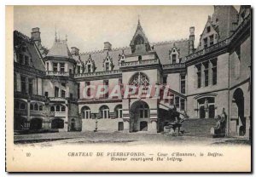
[[45, 71], [44, 60], [41, 58], [40, 52], [35, 43], [33, 43], [30, 37], [22, 34], [19, 31], [14, 31], [14, 48], [15, 52], [19, 53], [20, 45], [26, 45], [26, 49], [32, 59], [32, 67], [40, 71]]

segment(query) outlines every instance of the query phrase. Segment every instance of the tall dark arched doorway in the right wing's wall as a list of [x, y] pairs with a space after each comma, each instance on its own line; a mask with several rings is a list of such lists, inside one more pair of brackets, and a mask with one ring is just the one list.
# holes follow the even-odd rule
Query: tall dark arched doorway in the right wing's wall
[[237, 106], [237, 131], [240, 136], [243, 136], [246, 133], [246, 118], [244, 117], [244, 97], [241, 88], [236, 88], [233, 94], [233, 99]]

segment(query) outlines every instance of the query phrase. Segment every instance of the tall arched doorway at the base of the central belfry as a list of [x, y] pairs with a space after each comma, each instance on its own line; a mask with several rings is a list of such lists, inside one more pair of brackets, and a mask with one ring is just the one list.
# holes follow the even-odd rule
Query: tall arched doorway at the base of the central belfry
[[143, 100], [137, 100], [130, 108], [130, 132], [148, 131], [149, 106]]

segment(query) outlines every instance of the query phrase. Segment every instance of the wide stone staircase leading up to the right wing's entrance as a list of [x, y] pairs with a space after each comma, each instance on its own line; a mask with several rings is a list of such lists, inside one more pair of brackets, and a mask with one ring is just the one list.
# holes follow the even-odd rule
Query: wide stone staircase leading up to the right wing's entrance
[[210, 130], [217, 123], [212, 118], [189, 118], [183, 122], [182, 130], [185, 136], [208, 136], [212, 137]]

